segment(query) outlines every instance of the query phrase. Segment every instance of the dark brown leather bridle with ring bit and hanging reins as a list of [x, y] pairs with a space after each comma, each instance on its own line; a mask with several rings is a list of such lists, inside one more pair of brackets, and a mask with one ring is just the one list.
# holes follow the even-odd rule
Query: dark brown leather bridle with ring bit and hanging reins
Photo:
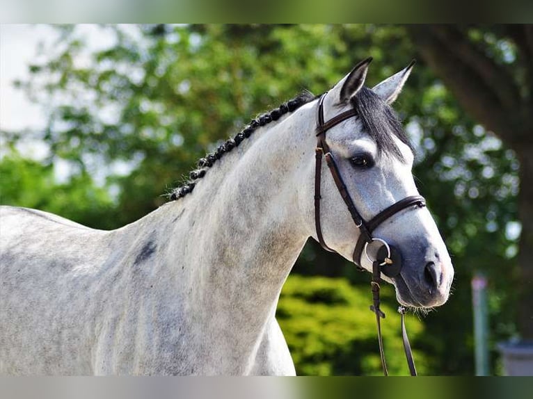
[[[379, 354], [381, 357], [381, 366], [383, 368], [383, 374], [388, 375], [387, 365], [385, 364], [385, 355], [383, 352], [383, 342], [381, 339], [381, 323], [380, 319], [385, 318], [383, 311], [379, 309], [379, 283], [381, 282], [381, 273], [388, 277], [397, 277], [401, 271], [401, 254], [392, 245], [389, 245], [381, 238], [376, 238], [372, 236], [372, 232], [381, 225], [385, 220], [388, 220], [392, 216], [396, 215], [404, 209], [408, 209], [412, 206], [417, 206], [422, 208], [426, 205], [426, 200], [420, 195], [411, 195], [404, 199], [400, 199], [395, 204], [392, 204], [388, 208], [384, 209], [378, 213], [374, 218], [369, 221], [366, 221], [363, 216], [358, 212], [355, 204], [348, 193], [346, 184], [342, 180], [337, 164], [335, 163], [335, 158], [329, 149], [328, 144], [326, 143], [326, 131], [335, 127], [340, 122], [347, 120], [351, 117], [357, 116], [357, 112], [354, 108], [344, 111], [340, 114], [335, 115], [327, 122], [324, 122], [324, 99], [326, 98], [326, 93], [321, 95], [318, 101], [318, 121], [317, 121], [317, 147], [315, 153], [315, 227], [317, 230], [317, 238], [320, 245], [329, 252], [335, 252], [332, 250], [326, 242], [324, 241], [324, 236], [322, 235], [320, 227], [320, 183], [321, 183], [321, 170], [322, 170], [322, 156], [326, 158], [326, 163], [335, 181], [335, 186], [344, 200], [344, 203], [348, 207], [351, 218], [356, 224], [356, 227], [360, 231], [358, 241], [356, 243], [355, 250], [353, 250], [353, 262], [356, 263], [356, 266], [361, 268], [361, 256], [365, 252], [365, 256], [369, 261], [372, 262], [372, 297], [374, 304], [370, 307], [370, 310], [376, 314], [376, 323], [378, 328], [378, 341], [379, 341]], [[381, 247], [376, 253], [376, 259], [371, 259], [367, 253], [367, 246], [369, 243], [377, 241], [381, 243]], [[404, 323], [404, 307], [399, 307], [398, 309], [401, 315], [401, 335], [404, 341], [404, 350], [406, 353], [406, 359], [409, 366], [409, 371], [411, 375], [416, 375], [415, 362], [413, 360], [413, 354], [411, 352], [411, 345], [407, 337], [407, 332]]]

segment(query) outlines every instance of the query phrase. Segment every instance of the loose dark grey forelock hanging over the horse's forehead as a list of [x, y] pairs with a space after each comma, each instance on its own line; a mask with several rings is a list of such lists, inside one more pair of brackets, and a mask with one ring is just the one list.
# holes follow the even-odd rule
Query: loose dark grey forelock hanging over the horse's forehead
[[401, 126], [397, 113], [375, 92], [366, 87], [360, 88], [351, 99], [351, 104], [356, 109], [363, 129], [376, 142], [379, 153], [387, 152], [404, 161], [404, 156], [401, 155], [391, 133], [408, 145], [414, 153], [413, 145]]

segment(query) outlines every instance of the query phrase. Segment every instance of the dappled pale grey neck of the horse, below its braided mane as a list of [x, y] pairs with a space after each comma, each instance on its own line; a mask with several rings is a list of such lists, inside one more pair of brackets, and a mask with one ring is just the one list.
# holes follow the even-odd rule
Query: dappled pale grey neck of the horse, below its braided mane
[[170, 256], [189, 268], [189, 306], [230, 341], [257, 339], [310, 235], [302, 182], [312, 177], [314, 123], [308, 104], [258, 129], [167, 205], [186, 209]]

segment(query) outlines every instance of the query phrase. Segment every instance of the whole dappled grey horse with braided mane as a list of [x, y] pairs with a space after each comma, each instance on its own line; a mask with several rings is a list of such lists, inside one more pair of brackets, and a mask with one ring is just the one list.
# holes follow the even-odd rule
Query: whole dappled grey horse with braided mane
[[2, 206], [0, 374], [295, 375], [275, 313], [310, 237], [371, 272], [401, 253], [397, 300], [445, 303], [452, 262], [391, 107], [412, 65], [367, 88], [369, 61], [252, 120], [119, 229]]

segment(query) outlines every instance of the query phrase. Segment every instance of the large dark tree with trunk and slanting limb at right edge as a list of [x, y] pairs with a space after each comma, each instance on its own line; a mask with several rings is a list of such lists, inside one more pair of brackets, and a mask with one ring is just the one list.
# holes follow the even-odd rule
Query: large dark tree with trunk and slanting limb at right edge
[[518, 329], [533, 339], [533, 26], [409, 26], [429, 67], [520, 161]]

